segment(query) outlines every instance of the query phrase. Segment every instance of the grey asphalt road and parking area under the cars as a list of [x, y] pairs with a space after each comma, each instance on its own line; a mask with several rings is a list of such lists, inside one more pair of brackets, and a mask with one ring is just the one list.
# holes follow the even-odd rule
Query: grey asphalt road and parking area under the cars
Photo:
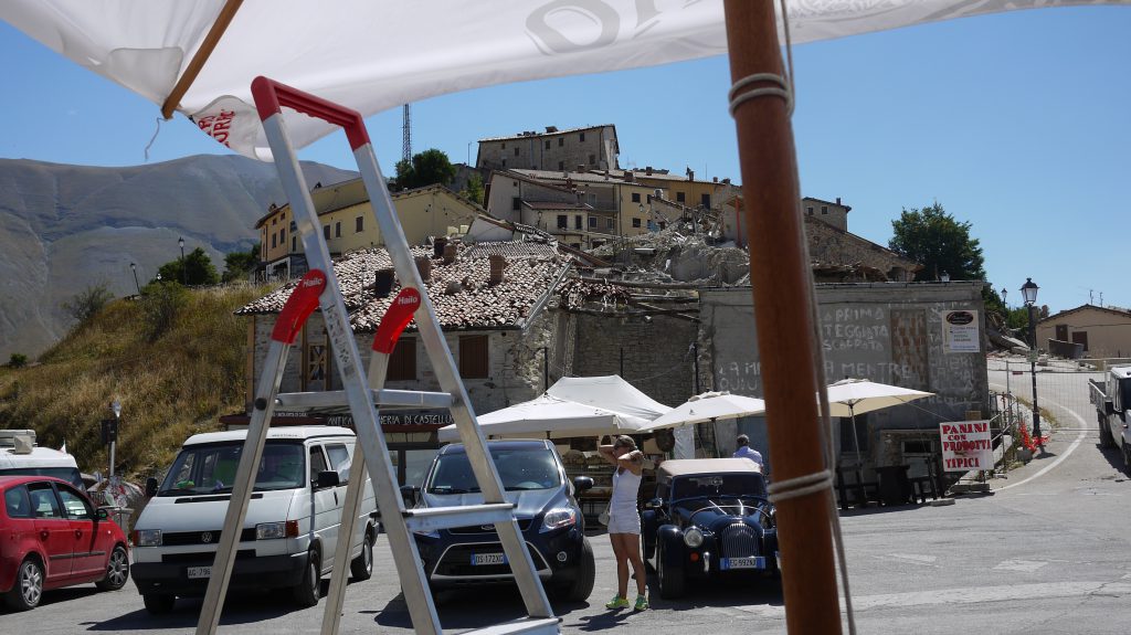
[[[1080, 382], [1079, 403], [1042, 403], [1063, 408], [1062, 424], [1074, 421], [1074, 414], [1079, 425], [1062, 425], [1046, 453], [1008, 479], [994, 479], [993, 495], [959, 497], [949, 506], [843, 514], [858, 633], [1131, 632], [1131, 482], [1117, 453], [1097, 447], [1095, 417]], [[603, 534], [590, 539], [596, 589], [589, 603], [555, 606], [564, 633], [786, 632], [780, 595], [757, 585], [705, 585], [680, 601], [657, 593], [648, 611], [606, 611], [603, 604], [615, 585], [611, 548]], [[383, 540], [374, 556], [373, 579], [349, 585], [342, 633], [411, 633]], [[441, 621], [455, 632], [523, 615], [516, 594], [503, 589], [451, 592], [440, 601]], [[221, 632], [317, 633], [323, 603], [293, 610], [286, 598], [232, 597]], [[192, 633], [198, 609], [199, 601], [179, 600], [172, 615], [152, 617], [132, 583], [112, 593], [85, 585], [48, 592], [31, 614], [0, 609], [0, 633]]]

